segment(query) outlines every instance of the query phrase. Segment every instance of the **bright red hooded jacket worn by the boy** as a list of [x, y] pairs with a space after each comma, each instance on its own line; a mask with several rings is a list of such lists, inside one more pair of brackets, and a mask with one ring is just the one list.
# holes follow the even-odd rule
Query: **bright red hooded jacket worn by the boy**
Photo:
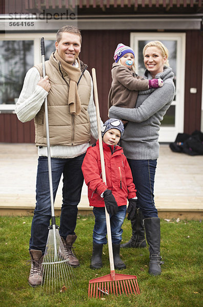
[[82, 171], [88, 186], [90, 206], [104, 207], [104, 198], [100, 194], [110, 189], [118, 206], [127, 205], [127, 198], [136, 196], [136, 189], [132, 173], [123, 148], [111, 146], [103, 142], [105, 170], [107, 183], [101, 177], [101, 162], [98, 140], [95, 145], [87, 149], [83, 161]]

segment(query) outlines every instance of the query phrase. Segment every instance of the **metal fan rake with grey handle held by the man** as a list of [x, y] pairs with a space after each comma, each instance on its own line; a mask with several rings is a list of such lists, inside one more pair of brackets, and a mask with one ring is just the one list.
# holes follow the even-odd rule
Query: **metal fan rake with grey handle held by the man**
[[[43, 64], [43, 77], [45, 77], [44, 37], [42, 37], [41, 39], [41, 53]], [[57, 291], [66, 291], [69, 287], [69, 284], [72, 284], [72, 278], [74, 277], [74, 275], [72, 267], [68, 264], [68, 259], [66, 257], [62, 238], [60, 237], [60, 234], [58, 232], [59, 227], [56, 225], [55, 222], [47, 97], [45, 98], [45, 120], [47, 133], [47, 157], [51, 203], [51, 226], [49, 226], [48, 228], [49, 233], [40, 276], [42, 276], [41, 289], [43, 288], [44, 291], [53, 293]]]

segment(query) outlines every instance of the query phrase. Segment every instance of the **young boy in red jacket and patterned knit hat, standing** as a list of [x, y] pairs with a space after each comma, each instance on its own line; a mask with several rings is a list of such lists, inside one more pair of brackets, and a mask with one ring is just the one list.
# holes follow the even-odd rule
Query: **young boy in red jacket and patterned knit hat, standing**
[[94, 207], [95, 216], [91, 269], [102, 267], [103, 245], [107, 244], [105, 206], [110, 214], [114, 267], [118, 270], [126, 268], [119, 256], [123, 233], [121, 226], [126, 216], [127, 199], [129, 200], [128, 218], [130, 218], [130, 215], [135, 212], [137, 198], [131, 169], [124, 156], [123, 148], [117, 145], [123, 133], [123, 122], [114, 118], [108, 119], [101, 129], [106, 184], [101, 177], [98, 140], [96, 144], [88, 148], [82, 165], [85, 182], [88, 186], [88, 199], [90, 206]]

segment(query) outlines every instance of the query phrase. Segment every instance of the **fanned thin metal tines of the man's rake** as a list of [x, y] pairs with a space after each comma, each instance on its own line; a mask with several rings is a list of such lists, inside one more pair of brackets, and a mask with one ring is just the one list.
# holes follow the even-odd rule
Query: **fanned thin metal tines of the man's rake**
[[[54, 245], [54, 236], [56, 247]], [[65, 249], [58, 229], [49, 230], [45, 256], [42, 264], [42, 285], [44, 292], [64, 292], [72, 285], [73, 269], [65, 259]]]

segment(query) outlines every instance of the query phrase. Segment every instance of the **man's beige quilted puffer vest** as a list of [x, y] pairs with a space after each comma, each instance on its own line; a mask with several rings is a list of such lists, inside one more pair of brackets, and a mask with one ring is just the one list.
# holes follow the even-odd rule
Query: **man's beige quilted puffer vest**
[[[53, 54], [45, 62], [46, 75], [49, 76], [51, 89], [47, 96], [50, 145], [78, 145], [90, 141], [90, 119], [87, 111], [91, 95], [91, 77], [86, 66], [80, 61], [82, 77], [78, 83], [81, 101], [79, 115], [70, 114], [68, 105], [69, 76]], [[42, 63], [35, 66], [43, 75]], [[35, 143], [47, 145], [44, 103], [34, 118]]]

